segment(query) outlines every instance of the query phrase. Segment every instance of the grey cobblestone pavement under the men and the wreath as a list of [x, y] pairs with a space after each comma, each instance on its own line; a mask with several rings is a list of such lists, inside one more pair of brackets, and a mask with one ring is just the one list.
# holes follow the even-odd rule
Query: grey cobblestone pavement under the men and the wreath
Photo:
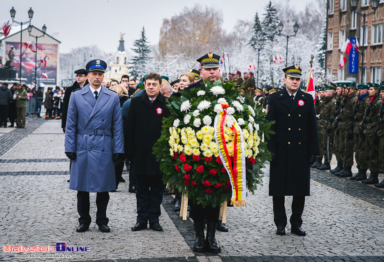
[[[136, 204], [128, 183], [110, 193], [110, 233], [101, 233], [94, 223], [89, 231], [76, 233], [76, 192], [68, 189], [68, 166], [59, 120], [35, 119], [25, 129], [0, 129], [1, 246], [66, 242], [90, 247], [87, 253], [66, 252], [64, 261], [384, 261], [384, 190], [327, 171], [312, 172], [303, 215], [307, 236], [291, 234], [289, 225], [287, 235], [275, 234], [267, 169], [264, 186], [248, 196], [247, 207], [228, 208], [230, 231], [216, 233], [222, 252], [214, 255], [192, 252], [193, 224], [173, 212], [172, 196], [163, 199], [163, 232], [131, 231]], [[95, 198], [91, 194], [93, 218]], [[288, 197], [288, 215], [290, 201]], [[63, 256], [15, 255], [22, 253], [1, 252], [0, 260], [58, 261], [52, 256]], [[45, 257], [36, 257], [41, 255]]]

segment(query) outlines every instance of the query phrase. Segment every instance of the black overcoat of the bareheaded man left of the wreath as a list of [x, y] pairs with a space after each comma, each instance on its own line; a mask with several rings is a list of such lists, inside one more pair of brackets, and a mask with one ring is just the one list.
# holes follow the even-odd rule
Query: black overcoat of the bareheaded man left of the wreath
[[133, 161], [133, 175], [163, 175], [152, 148], [161, 136], [163, 117], [170, 115], [166, 104], [161, 94], [153, 103], [149, 101], [147, 93], [131, 100], [124, 143], [126, 157]]

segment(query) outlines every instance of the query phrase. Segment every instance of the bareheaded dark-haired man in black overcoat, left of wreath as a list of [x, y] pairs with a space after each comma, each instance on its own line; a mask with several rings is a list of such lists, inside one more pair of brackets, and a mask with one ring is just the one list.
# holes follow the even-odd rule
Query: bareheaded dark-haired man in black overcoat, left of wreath
[[163, 173], [152, 154], [154, 143], [160, 138], [163, 118], [170, 115], [161, 90], [161, 75], [149, 73], [144, 80], [145, 93], [131, 99], [126, 133], [124, 134], [126, 158], [131, 161], [131, 171], [136, 176], [136, 201], [138, 217], [132, 231], [149, 228], [163, 231], [159, 224], [163, 200]]

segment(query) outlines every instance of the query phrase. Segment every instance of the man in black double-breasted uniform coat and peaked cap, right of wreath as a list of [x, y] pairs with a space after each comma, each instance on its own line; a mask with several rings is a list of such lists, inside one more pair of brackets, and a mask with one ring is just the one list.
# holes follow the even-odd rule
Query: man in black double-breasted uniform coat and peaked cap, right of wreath
[[269, 170], [269, 196], [273, 196], [276, 234], [286, 234], [284, 196], [293, 196], [291, 233], [306, 235], [302, 229], [305, 196], [309, 196], [311, 155], [320, 154], [313, 97], [302, 92], [301, 68], [283, 69], [286, 89], [269, 95], [267, 120], [274, 121], [274, 135], [267, 140], [272, 153]]

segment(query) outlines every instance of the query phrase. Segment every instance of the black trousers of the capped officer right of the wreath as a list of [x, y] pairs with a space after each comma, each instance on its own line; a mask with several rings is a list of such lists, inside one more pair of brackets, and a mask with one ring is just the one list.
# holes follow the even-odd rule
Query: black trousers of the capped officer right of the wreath
[[[287, 215], [284, 202], [284, 196], [273, 196], [274, 224], [276, 226], [285, 227], [287, 225]], [[305, 196], [293, 196], [290, 226], [302, 226], [302, 213], [304, 211], [304, 203]]]

